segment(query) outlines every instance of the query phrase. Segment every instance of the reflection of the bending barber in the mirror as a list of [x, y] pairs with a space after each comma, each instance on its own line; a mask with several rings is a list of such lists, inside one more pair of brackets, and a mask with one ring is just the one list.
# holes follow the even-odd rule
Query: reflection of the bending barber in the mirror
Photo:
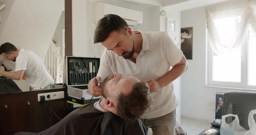
[[23, 75], [31, 90], [49, 89], [53, 78], [49, 75], [41, 58], [33, 51], [17, 49], [11, 43], [4, 43], [0, 46], [0, 55], [8, 61], [15, 61], [15, 72], [0, 71], [4, 77], [20, 80]]

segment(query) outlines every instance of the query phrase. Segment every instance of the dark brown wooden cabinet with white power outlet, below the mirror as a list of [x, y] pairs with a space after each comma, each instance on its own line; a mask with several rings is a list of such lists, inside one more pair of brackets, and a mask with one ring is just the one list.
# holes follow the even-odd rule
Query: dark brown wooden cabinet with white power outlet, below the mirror
[[[64, 99], [37, 101], [38, 93], [63, 91]], [[41, 132], [59, 122], [59, 119], [48, 112], [50, 108], [64, 118], [70, 105], [66, 103], [66, 89], [39, 90], [20, 93], [0, 94], [0, 135], [13, 135], [16, 132]]]

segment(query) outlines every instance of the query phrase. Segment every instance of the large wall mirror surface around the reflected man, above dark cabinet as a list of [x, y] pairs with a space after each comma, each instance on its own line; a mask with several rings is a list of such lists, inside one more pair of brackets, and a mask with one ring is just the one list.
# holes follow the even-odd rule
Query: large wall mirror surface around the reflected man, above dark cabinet
[[[0, 7], [3, 7], [0, 9], [0, 45], [10, 42], [18, 49], [35, 52], [53, 77], [50, 89], [62, 88], [65, 58], [64, 3], [65, 0], [0, 0]], [[3, 70], [13, 71], [15, 64], [5, 58], [0, 60]], [[13, 82], [6, 82], [3, 78], [0, 77], [0, 86], [14, 82], [21, 91], [30, 91], [24, 77], [24, 80]], [[0, 87], [0, 93], [8, 92], [1, 90], [3, 88]]]

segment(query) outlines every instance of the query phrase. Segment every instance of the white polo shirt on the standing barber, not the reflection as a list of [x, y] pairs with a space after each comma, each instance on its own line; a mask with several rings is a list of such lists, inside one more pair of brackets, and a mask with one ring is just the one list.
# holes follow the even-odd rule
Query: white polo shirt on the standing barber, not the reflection
[[[98, 76], [104, 79], [119, 72], [137, 77], [141, 81], [158, 80], [170, 66], [179, 63], [182, 51], [165, 32], [141, 32], [143, 43], [136, 63], [118, 57], [115, 52], [105, 49], [100, 61]], [[158, 92], [150, 94], [153, 98], [151, 110], [142, 116], [144, 119], [156, 118], [171, 113], [178, 106], [173, 84], [168, 84]]]

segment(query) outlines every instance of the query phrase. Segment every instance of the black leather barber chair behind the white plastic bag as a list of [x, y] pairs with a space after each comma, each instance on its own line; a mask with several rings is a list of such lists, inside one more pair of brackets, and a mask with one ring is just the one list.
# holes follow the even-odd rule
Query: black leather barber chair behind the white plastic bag
[[[253, 109], [256, 109], [256, 92], [230, 91], [224, 93], [222, 116], [226, 114], [237, 115], [240, 125], [246, 130], [249, 130], [248, 116]], [[253, 118], [256, 120], [256, 115]], [[226, 122], [231, 123], [234, 119], [234, 117], [227, 117]], [[211, 135], [220, 135], [220, 129], [216, 127], [206, 129], [198, 135], [208, 135], [205, 133], [207, 130], [213, 131]]]

